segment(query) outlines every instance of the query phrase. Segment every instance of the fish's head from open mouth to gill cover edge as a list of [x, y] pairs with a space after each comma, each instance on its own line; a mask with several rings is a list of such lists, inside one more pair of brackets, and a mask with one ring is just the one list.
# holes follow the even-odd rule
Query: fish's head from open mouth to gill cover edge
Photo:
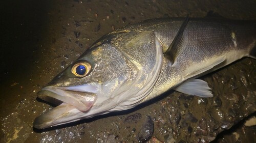
[[83, 53], [38, 92], [38, 98], [57, 106], [37, 117], [34, 127], [48, 128], [136, 106], [152, 91], [161, 68], [159, 42], [152, 38], [154, 42], [145, 41], [152, 49], [151, 60], [125, 50], [127, 45], [120, 48], [106, 42]]

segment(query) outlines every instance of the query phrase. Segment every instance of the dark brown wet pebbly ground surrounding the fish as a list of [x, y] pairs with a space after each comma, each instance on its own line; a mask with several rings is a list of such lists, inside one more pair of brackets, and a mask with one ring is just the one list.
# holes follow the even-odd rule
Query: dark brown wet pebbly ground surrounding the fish
[[[36, 93], [102, 35], [159, 17], [256, 20], [256, 1], [10, 1], [0, 6], [0, 142], [255, 142], [256, 61], [210, 73], [213, 98], [169, 92], [135, 109], [33, 129]], [[217, 139], [215, 137], [217, 136]]]

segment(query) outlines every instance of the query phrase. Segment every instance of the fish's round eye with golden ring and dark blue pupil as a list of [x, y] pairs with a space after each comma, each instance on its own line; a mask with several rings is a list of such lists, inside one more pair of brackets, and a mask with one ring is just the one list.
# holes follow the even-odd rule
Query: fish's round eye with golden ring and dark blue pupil
[[87, 76], [90, 70], [91, 65], [86, 61], [79, 61], [71, 68], [71, 72], [78, 77]]

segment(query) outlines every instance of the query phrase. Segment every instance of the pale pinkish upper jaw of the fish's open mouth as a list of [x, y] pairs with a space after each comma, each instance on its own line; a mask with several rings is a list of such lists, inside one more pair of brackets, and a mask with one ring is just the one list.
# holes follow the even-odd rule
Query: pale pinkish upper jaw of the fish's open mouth
[[41, 89], [41, 91], [37, 93], [37, 97], [56, 105], [65, 102], [76, 107], [80, 111], [89, 110], [97, 100], [97, 96], [94, 93], [53, 86]]

